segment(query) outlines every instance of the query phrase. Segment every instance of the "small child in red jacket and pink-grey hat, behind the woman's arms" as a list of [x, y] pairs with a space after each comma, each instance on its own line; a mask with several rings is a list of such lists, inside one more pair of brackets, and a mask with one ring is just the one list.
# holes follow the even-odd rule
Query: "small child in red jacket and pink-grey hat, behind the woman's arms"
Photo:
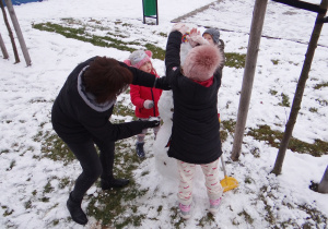
[[[160, 77], [150, 60], [151, 57], [152, 52], [150, 50], [137, 50], [124, 62]], [[139, 120], [148, 120], [151, 117], [157, 117], [160, 119], [157, 103], [161, 95], [162, 89], [130, 85], [130, 96], [132, 104], [136, 106], [136, 117], [138, 117]], [[156, 126], [153, 130], [156, 137], [160, 126]], [[137, 135], [136, 150], [139, 157], [144, 157], [143, 145], [145, 133], [147, 129], [144, 129], [141, 134]]]

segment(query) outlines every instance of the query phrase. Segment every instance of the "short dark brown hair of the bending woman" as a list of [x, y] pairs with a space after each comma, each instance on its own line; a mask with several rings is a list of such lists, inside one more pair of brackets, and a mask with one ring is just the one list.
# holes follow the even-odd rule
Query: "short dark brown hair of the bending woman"
[[132, 73], [112, 58], [97, 57], [83, 75], [85, 92], [93, 94], [98, 104], [113, 100], [132, 83]]

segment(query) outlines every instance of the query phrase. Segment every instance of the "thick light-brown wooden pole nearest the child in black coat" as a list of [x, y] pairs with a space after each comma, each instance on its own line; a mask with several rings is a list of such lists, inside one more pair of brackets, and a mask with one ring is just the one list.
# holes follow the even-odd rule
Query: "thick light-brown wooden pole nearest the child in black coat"
[[249, 108], [251, 87], [254, 82], [259, 44], [265, 22], [268, 0], [256, 0], [254, 5], [250, 34], [248, 39], [246, 63], [243, 77], [242, 94], [237, 114], [237, 124], [234, 134], [234, 144], [231, 158], [237, 160], [241, 155], [244, 130]]

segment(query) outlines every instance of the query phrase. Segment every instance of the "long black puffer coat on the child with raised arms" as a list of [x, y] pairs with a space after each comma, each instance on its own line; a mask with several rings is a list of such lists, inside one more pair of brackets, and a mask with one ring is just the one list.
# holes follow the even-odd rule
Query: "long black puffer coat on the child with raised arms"
[[218, 92], [221, 74], [215, 73], [213, 84], [204, 87], [180, 71], [179, 50], [181, 34], [168, 36], [165, 65], [165, 81], [172, 87], [174, 114], [172, 142], [168, 156], [190, 164], [209, 164], [221, 154], [220, 124], [218, 119]]

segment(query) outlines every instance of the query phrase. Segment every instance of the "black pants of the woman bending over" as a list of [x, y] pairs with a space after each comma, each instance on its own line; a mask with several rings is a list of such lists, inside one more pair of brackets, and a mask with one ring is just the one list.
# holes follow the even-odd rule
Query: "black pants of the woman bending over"
[[[99, 156], [97, 155], [94, 144], [96, 144], [101, 150]], [[73, 198], [82, 200], [86, 191], [98, 177], [108, 181], [114, 179], [113, 166], [115, 142], [105, 143], [96, 140], [90, 140], [85, 143], [67, 143], [67, 145], [73, 152], [83, 169], [82, 173], [75, 181], [75, 185], [72, 191]]]

